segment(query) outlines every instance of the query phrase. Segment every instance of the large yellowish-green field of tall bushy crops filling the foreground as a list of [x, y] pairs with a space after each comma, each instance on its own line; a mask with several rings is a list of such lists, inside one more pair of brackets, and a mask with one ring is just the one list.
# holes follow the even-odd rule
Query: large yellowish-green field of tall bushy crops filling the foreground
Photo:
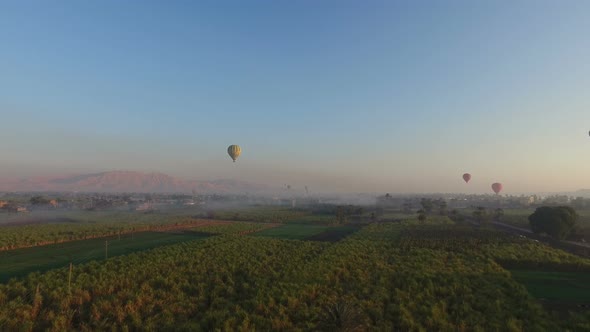
[[[61, 257], [63, 267], [74, 257], [92, 259], [76, 256], [84, 248], [99, 261], [76, 263], [71, 287], [66, 268], [0, 283], [0, 330], [585, 331], [590, 326], [590, 312], [582, 306], [588, 303], [590, 260], [493, 229], [432, 218], [363, 227], [232, 222], [195, 230], [220, 235], [188, 241], [200, 234], [145, 233], [146, 241], [137, 237], [140, 243], [133, 247], [129, 238], [111, 238], [111, 251], [120, 242], [121, 253], [160, 247], [108, 260], [101, 259], [103, 240], [78, 241], [82, 247], [53, 253], [46, 250], [51, 246], [9, 251], [30, 257], [10, 256], [7, 262], [9, 256], [0, 256], [6, 264], [0, 271], [19, 261], [36, 269], [48, 257]], [[162, 246], [165, 238], [158, 236], [187, 242]], [[505, 270], [505, 264], [515, 271]], [[572, 268], [576, 272], [566, 272]]]

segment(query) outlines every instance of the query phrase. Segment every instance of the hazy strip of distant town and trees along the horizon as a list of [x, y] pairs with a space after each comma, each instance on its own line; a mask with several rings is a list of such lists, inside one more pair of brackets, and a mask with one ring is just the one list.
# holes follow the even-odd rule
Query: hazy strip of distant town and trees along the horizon
[[178, 207], [217, 207], [223, 204], [310, 206], [361, 205], [381, 206], [412, 212], [420, 209], [424, 199], [444, 204], [447, 209], [534, 208], [547, 205], [570, 205], [577, 209], [590, 207], [590, 198], [569, 195], [476, 195], [476, 194], [415, 194], [415, 195], [348, 195], [348, 196], [256, 196], [231, 194], [162, 194], [162, 193], [64, 193], [64, 192], [4, 192], [0, 193], [0, 213], [27, 213], [33, 210], [125, 210], [155, 211]]

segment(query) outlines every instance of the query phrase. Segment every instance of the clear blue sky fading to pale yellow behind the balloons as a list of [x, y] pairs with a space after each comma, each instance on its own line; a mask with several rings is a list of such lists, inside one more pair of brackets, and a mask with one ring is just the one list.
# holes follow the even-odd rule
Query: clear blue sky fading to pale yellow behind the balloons
[[589, 1], [4, 0], [0, 178], [590, 188], [589, 35]]

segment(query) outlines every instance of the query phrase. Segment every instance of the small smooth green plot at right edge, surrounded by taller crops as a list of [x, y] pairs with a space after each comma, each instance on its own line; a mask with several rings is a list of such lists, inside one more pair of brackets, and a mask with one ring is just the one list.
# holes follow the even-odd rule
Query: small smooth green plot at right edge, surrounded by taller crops
[[590, 304], [590, 272], [510, 272], [537, 299]]

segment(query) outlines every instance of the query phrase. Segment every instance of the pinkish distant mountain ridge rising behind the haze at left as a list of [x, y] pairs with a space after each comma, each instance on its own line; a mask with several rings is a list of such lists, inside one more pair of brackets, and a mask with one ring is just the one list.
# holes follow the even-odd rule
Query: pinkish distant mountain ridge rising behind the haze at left
[[0, 180], [0, 191], [191, 193], [192, 190], [198, 193], [252, 193], [269, 190], [269, 187], [231, 179], [187, 181], [163, 173], [136, 171]]

